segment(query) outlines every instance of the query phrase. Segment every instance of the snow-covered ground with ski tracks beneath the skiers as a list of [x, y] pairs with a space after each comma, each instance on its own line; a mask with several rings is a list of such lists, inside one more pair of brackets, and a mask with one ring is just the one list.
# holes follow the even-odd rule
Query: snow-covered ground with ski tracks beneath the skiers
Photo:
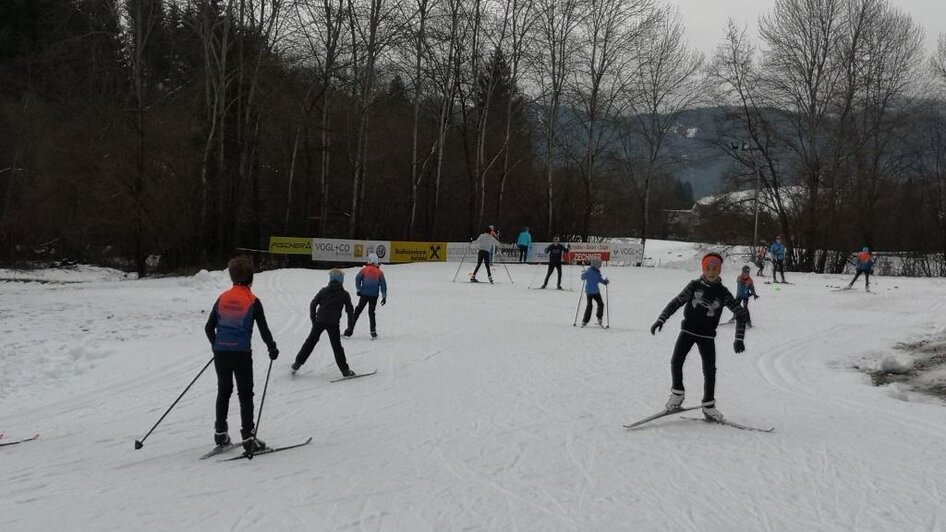
[[[456, 283], [456, 265], [387, 266], [381, 338], [363, 316], [345, 342], [355, 371], [378, 374], [335, 384], [326, 338], [289, 375], [325, 272], [258, 274], [282, 352], [260, 437], [314, 441], [251, 462], [197, 459], [212, 444], [211, 370], [133, 448], [210, 360], [203, 325], [224, 272], [0, 283], [0, 441], [42, 433], [0, 448], [0, 530], [946, 528], [942, 401], [852, 369], [942, 336], [946, 282], [877, 278], [876, 295], [831, 292], [839, 276], [757, 282], [747, 351], [720, 328], [717, 399], [729, 419], [776, 431], [681, 416], [629, 431], [667, 398], [682, 312], [656, 337], [650, 324], [698, 273], [693, 246], [652, 253], [662, 267], [604, 268], [610, 330], [572, 327], [577, 291], [528, 290], [543, 266], [510, 265], [515, 283], [500, 269], [492, 286], [463, 282], [467, 266]], [[738, 269], [724, 265], [731, 288]], [[269, 360], [255, 340], [258, 407]], [[693, 404], [696, 352], [685, 378]], [[238, 410], [234, 397], [232, 435]]]

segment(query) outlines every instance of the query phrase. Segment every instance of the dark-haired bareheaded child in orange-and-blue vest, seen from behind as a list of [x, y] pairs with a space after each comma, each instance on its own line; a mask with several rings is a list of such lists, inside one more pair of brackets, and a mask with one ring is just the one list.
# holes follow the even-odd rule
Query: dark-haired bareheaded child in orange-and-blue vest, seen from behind
[[269, 349], [270, 360], [279, 357], [279, 349], [266, 324], [263, 304], [250, 290], [253, 284], [253, 263], [246, 257], [230, 259], [227, 264], [230, 281], [233, 282], [226, 292], [220, 294], [210, 310], [204, 332], [210, 340], [214, 353], [214, 369], [217, 372], [217, 420], [214, 422], [214, 443], [218, 446], [230, 444], [227, 427], [227, 413], [230, 410], [230, 396], [233, 394], [233, 380], [236, 378], [237, 397], [240, 399], [240, 435], [243, 437], [243, 449], [253, 453], [266, 448], [262, 440], [256, 438], [253, 424], [253, 323], [259, 325], [260, 336]]

